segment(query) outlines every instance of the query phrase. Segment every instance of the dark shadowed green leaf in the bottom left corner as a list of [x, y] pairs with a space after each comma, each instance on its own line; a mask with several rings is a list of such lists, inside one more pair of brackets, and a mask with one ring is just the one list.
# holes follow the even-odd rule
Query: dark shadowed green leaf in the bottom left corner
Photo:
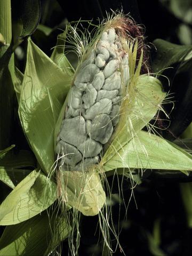
[[[59, 226], [57, 227], [59, 234], [55, 239], [55, 247], [68, 236], [70, 226], [65, 218], [59, 219], [55, 214], [49, 217], [45, 211], [30, 220], [7, 226], [0, 239], [0, 255], [44, 255], [54, 238], [52, 232], [55, 223]], [[50, 252], [49, 250], [46, 255]]]

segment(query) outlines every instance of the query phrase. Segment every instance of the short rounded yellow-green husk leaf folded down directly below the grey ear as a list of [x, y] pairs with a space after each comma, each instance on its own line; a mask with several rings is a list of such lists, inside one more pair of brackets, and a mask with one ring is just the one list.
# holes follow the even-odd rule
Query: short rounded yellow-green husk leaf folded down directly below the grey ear
[[62, 199], [84, 215], [97, 215], [106, 202], [99, 174], [89, 172], [62, 172]]

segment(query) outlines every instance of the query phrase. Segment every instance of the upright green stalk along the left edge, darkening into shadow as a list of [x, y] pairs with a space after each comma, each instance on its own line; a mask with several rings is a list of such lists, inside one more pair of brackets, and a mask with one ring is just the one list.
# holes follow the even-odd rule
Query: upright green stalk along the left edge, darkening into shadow
[[0, 149], [10, 146], [13, 127], [14, 55], [11, 49], [11, 0], [0, 1]]

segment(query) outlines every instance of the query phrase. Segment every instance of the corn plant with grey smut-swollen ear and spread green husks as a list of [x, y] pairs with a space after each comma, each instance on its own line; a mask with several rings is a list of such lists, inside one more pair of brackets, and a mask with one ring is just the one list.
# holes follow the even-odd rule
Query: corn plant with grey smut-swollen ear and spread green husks
[[[8, 120], [1, 123], [0, 179], [11, 189], [0, 205], [0, 225], [6, 226], [0, 255], [49, 255], [64, 239], [70, 255], [77, 255], [82, 215], [98, 215], [103, 253], [111, 254], [110, 232], [121, 244], [109, 225], [108, 177], [129, 179], [133, 193], [146, 170], [192, 170], [191, 155], [156, 129], [158, 114], [167, 116], [164, 105], [172, 101], [162, 90], [161, 71], [150, 71], [142, 29], [114, 12], [99, 26], [88, 22], [87, 30], [68, 23], [51, 57], [28, 36], [35, 26], [25, 35], [21, 31], [20, 41], [27, 38], [22, 74], [14, 65], [20, 41], [11, 44], [10, 1], [0, 6], [6, 21], [0, 31], [1, 95], [10, 100], [6, 107], [1, 102], [1, 120]], [[67, 51], [78, 55], [76, 69]], [[31, 149], [17, 155], [17, 145], [4, 141], [13, 97]]]

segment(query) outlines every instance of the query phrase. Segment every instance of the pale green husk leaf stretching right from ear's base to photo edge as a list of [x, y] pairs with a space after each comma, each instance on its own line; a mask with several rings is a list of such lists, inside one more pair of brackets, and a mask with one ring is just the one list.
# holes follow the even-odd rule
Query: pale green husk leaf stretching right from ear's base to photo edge
[[104, 165], [106, 171], [120, 167], [192, 171], [192, 156], [161, 137], [140, 131]]

